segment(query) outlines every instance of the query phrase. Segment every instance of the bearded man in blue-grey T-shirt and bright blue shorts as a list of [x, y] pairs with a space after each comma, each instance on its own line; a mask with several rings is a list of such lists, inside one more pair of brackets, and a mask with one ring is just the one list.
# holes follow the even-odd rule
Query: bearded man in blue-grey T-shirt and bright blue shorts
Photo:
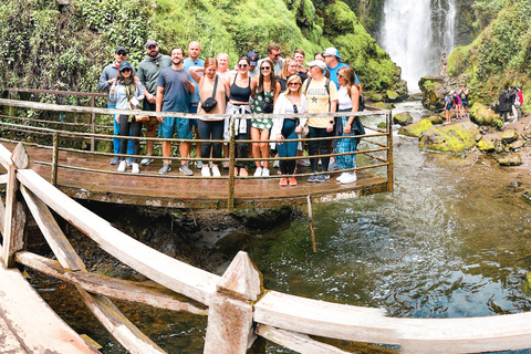
[[[191, 94], [196, 86], [188, 79], [188, 73], [183, 63], [185, 51], [181, 48], [171, 50], [171, 66], [160, 71], [157, 81], [157, 112], [184, 112], [188, 113], [188, 106], [191, 101]], [[191, 139], [190, 123], [186, 118], [177, 117], [157, 117], [160, 122], [160, 132], [164, 138], [173, 138], [175, 129], [181, 139]], [[180, 143], [179, 153], [181, 158], [190, 157], [191, 143]], [[163, 142], [163, 156], [169, 157], [171, 154], [171, 142]], [[159, 175], [166, 175], [171, 170], [169, 159], [164, 160], [163, 167], [158, 170]], [[191, 176], [194, 173], [188, 166], [188, 160], [183, 159], [179, 170]]]

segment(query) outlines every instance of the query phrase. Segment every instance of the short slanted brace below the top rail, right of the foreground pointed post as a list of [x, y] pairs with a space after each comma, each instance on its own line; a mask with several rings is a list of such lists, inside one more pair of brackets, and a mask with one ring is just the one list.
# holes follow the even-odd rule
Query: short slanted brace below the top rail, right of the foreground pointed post
[[348, 354], [330, 344], [312, 340], [310, 336], [292, 331], [279, 330], [269, 325], [260, 324], [254, 331], [266, 340], [285, 346], [301, 354]]

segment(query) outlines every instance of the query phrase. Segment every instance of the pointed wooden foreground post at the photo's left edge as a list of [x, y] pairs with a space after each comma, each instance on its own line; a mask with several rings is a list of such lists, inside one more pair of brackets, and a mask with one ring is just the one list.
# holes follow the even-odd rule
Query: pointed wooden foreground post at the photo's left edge
[[12, 164], [8, 168], [8, 184], [6, 187], [6, 214], [3, 221], [2, 262], [6, 267], [14, 266], [13, 254], [24, 248], [25, 210], [17, 200], [19, 183], [17, 168], [28, 167], [28, 154], [24, 145], [19, 143], [11, 154]]

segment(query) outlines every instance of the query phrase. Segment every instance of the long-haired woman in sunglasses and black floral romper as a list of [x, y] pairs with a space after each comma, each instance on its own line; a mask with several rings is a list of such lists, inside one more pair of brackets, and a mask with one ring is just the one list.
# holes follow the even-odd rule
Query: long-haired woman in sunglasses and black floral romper
[[[273, 71], [273, 63], [269, 59], [264, 59], [260, 64], [260, 74], [252, 80], [251, 97], [254, 100], [252, 104], [252, 113], [264, 114], [273, 113], [273, 105], [280, 93], [280, 83], [277, 81]], [[264, 111], [267, 103], [271, 111]], [[251, 122], [251, 139], [267, 140], [269, 139], [269, 129], [273, 126], [271, 118], [254, 118]], [[268, 143], [252, 143], [252, 157], [269, 158]], [[269, 160], [257, 160], [257, 170], [254, 177], [269, 176]], [[262, 168], [263, 167], [263, 168]]]

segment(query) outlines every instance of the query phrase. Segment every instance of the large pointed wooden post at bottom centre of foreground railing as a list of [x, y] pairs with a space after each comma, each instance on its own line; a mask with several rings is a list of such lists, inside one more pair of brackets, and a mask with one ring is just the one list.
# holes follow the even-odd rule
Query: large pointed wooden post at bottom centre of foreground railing
[[256, 339], [250, 302], [261, 292], [260, 272], [246, 252], [238, 252], [210, 299], [205, 354], [247, 353]]

